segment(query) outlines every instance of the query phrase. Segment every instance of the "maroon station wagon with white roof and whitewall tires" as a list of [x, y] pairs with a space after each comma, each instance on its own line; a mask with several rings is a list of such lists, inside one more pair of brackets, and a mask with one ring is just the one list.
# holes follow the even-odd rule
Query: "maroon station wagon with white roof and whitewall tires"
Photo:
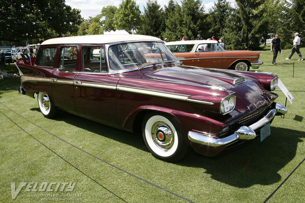
[[[58, 110], [131, 132], [148, 150], [178, 161], [193, 148], [216, 156], [270, 130], [287, 109], [275, 102], [277, 75], [182, 66], [155, 37], [50, 39], [34, 65], [16, 63], [20, 91], [42, 114]], [[263, 130], [261, 130], [263, 129]]]

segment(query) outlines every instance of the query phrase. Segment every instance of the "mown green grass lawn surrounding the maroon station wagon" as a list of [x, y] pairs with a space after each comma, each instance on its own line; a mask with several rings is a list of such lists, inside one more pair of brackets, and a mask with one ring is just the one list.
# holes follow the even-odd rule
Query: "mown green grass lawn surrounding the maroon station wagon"
[[[264, 64], [257, 69], [279, 75], [295, 98], [293, 104], [287, 101], [285, 118], [272, 122], [271, 135], [221, 158], [191, 152], [178, 163], [154, 158], [139, 135], [65, 112], [46, 119], [37, 99], [18, 94], [19, 78], [0, 81], [0, 202], [263, 202], [305, 158], [305, 61], [296, 54], [285, 60], [289, 52], [273, 65], [272, 52], [262, 51]], [[305, 57], [305, 48], [301, 53]], [[13, 65], [0, 70], [17, 73]], [[276, 92], [285, 105], [285, 95]], [[302, 163], [268, 202], [305, 202], [304, 180]], [[27, 185], [12, 199], [11, 183], [17, 189], [22, 182], [76, 185], [71, 192], [33, 191]], [[60, 197], [71, 194], [78, 196]]]

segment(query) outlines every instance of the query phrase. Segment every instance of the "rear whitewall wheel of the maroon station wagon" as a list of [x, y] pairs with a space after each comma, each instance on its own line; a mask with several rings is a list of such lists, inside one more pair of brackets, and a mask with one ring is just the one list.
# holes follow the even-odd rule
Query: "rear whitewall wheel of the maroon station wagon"
[[59, 113], [49, 95], [45, 92], [38, 93], [38, 106], [41, 113], [46, 118], [55, 118]]

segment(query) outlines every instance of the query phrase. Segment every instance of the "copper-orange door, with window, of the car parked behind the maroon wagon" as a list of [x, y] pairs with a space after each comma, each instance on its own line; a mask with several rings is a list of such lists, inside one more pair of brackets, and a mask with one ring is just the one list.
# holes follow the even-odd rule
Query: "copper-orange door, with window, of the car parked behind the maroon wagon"
[[199, 44], [194, 53], [194, 66], [223, 68], [223, 52], [217, 49], [217, 43]]

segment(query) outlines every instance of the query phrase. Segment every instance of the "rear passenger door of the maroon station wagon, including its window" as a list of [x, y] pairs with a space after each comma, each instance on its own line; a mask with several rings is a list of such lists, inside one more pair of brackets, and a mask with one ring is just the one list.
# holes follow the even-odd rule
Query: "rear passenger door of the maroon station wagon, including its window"
[[77, 46], [60, 48], [57, 69], [52, 73], [52, 92], [57, 107], [76, 113], [74, 104], [74, 78], [77, 70]]

